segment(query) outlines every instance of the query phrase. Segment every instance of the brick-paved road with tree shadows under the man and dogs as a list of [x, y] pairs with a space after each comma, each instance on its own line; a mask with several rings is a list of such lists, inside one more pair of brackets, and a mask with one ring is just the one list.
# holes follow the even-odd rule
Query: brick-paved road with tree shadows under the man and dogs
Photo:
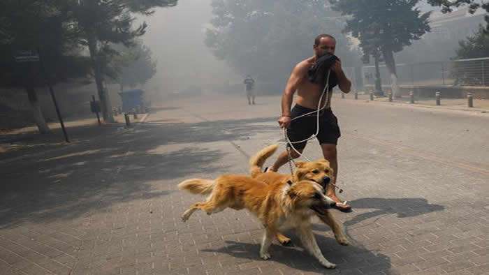
[[[189, 177], [247, 172], [276, 142], [278, 97], [183, 98], [132, 131], [0, 162], [0, 274], [487, 274], [489, 116], [341, 100], [337, 212], [351, 246], [314, 226], [326, 270], [294, 246], [258, 258], [246, 211], [180, 214]], [[307, 156], [319, 158], [311, 142]], [[286, 168], [283, 169], [286, 172]]]

